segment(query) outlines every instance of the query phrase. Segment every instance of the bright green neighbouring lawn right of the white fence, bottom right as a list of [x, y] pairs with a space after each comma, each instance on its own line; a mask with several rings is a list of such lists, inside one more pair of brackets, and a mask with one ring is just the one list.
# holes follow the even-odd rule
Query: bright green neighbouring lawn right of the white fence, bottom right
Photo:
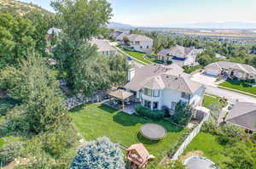
[[200, 150], [203, 155], [219, 165], [220, 168], [224, 168], [224, 161], [229, 161], [229, 157], [222, 155], [225, 148], [223, 145], [218, 144], [216, 136], [200, 132], [185, 149], [183, 155], [188, 152]]

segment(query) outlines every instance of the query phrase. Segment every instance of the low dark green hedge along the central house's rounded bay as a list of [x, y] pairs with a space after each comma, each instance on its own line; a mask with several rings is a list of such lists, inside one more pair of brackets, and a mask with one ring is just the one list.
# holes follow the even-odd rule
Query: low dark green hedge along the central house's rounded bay
[[162, 120], [165, 115], [165, 113], [161, 110], [150, 110], [148, 108], [144, 108], [142, 105], [137, 105], [135, 110], [138, 115], [146, 116], [154, 120]]

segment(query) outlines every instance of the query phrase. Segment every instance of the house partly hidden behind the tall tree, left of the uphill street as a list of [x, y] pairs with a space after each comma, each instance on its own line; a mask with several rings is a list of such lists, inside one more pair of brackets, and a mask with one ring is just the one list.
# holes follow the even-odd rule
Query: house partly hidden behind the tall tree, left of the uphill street
[[103, 54], [105, 56], [114, 56], [118, 54], [118, 51], [115, 48], [102, 39], [93, 38], [90, 43], [97, 46], [99, 54]]

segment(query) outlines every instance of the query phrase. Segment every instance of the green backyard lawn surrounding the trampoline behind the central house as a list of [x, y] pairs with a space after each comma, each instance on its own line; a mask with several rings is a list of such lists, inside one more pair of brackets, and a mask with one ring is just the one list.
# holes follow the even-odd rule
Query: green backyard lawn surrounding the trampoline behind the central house
[[[79, 110], [70, 113], [75, 127], [87, 140], [93, 140], [107, 136], [113, 142], [130, 146], [131, 144], [143, 143], [150, 154], [157, 157], [156, 161], [166, 155], [185, 130], [173, 126], [168, 121], [151, 121], [138, 115], [128, 115], [119, 110], [101, 104], [89, 104]], [[138, 134], [140, 127], [148, 122], [158, 123], [167, 130], [166, 138], [157, 141], [148, 141]]]

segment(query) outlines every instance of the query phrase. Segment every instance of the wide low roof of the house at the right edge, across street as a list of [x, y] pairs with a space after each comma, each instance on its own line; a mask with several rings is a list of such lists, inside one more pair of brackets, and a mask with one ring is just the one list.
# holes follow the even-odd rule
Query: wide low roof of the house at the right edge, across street
[[255, 68], [253, 68], [253, 66], [251, 65], [246, 65], [246, 64], [238, 64], [238, 63], [234, 63], [234, 62], [228, 62], [228, 61], [219, 61], [219, 62], [215, 62], [212, 64], [209, 64], [206, 66], [206, 69], [237, 69], [237, 70], [241, 70], [244, 71], [248, 74], [253, 74], [256, 75], [256, 70]]

